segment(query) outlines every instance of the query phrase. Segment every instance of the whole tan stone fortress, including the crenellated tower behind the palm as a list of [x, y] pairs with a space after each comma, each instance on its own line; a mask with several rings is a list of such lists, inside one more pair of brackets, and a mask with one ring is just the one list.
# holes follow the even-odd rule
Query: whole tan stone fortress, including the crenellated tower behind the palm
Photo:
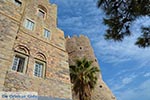
[[[72, 100], [69, 63], [79, 55], [70, 54], [71, 48], [79, 48], [80, 53], [87, 46], [91, 55], [82, 52], [83, 56], [98, 66], [89, 40], [79, 44], [83, 39], [64, 38], [57, 28], [57, 7], [49, 0], [0, 0], [0, 91]], [[112, 98], [100, 76], [93, 100]]]

